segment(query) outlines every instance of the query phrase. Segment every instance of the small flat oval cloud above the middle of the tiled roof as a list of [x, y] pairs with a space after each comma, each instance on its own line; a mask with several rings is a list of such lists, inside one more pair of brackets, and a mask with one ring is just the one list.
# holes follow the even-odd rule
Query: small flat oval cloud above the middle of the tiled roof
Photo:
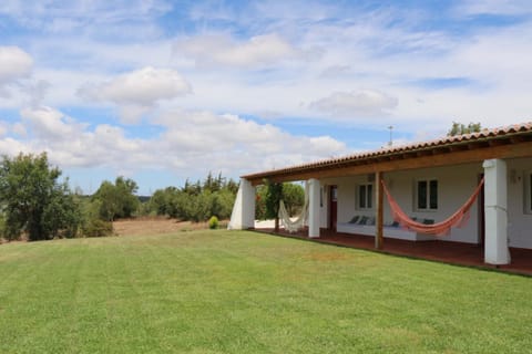
[[374, 90], [335, 92], [314, 101], [309, 108], [338, 117], [368, 117], [389, 114], [397, 98]]

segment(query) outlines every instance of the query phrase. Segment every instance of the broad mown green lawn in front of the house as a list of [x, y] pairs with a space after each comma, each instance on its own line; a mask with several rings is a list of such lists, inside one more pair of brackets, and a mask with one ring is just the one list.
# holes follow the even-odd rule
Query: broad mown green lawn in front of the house
[[0, 353], [525, 353], [532, 279], [246, 231], [0, 246]]

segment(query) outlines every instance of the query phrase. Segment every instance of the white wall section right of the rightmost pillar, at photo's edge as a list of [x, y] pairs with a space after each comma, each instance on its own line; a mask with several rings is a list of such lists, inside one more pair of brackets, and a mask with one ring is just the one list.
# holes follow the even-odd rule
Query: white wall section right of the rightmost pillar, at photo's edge
[[508, 159], [508, 238], [510, 247], [532, 249], [532, 214], [525, 212], [525, 180], [532, 173], [532, 158]]

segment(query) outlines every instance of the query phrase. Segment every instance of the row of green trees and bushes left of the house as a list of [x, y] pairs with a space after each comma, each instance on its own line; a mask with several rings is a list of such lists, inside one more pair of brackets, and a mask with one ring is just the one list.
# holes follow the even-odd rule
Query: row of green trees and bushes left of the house
[[157, 215], [180, 220], [205, 221], [231, 217], [238, 184], [209, 173], [204, 181], [186, 181], [183, 188], [156, 190], [144, 202], [130, 178], [104, 180], [92, 196], [84, 196], [61, 180], [45, 153], [2, 156], [0, 160], [0, 237], [31, 241], [53, 238], [112, 235], [112, 221]]

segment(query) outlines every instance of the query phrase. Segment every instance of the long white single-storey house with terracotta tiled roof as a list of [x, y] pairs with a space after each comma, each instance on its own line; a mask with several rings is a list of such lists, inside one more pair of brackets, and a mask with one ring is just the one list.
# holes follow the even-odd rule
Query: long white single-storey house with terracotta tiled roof
[[382, 185], [421, 223], [446, 220], [483, 186], [461, 228], [439, 237], [484, 246], [484, 261], [508, 264], [509, 247], [532, 249], [532, 123], [391, 147], [242, 176], [229, 228], [254, 227], [255, 186], [309, 181], [308, 237], [320, 229], [415, 242], [436, 236], [393, 222]]

